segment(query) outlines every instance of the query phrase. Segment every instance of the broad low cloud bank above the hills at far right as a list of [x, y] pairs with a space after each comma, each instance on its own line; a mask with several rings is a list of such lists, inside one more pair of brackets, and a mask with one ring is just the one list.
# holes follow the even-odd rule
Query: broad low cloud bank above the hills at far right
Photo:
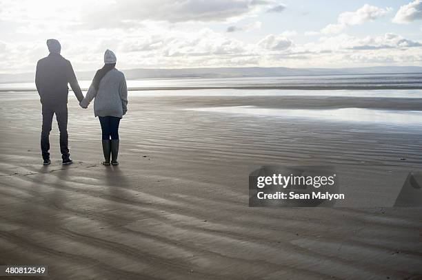
[[285, 67], [420, 65], [421, 46], [422, 42], [405, 39], [399, 34], [364, 38], [339, 34], [322, 36], [309, 43], [295, 43], [287, 50], [272, 50], [263, 61], [274, 66], [282, 61]]

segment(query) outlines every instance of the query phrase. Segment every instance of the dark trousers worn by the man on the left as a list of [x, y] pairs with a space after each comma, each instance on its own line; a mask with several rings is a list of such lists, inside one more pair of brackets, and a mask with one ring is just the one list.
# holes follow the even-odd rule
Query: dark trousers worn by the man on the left
[[57, 124], [60, 131], [60, 151], [61, 158], [67, 160], [70, 156], [68, 149], [68, 105], [66, 103], [59, 104], [43, 104], [43, 127], [41, 129], [41, 151], [43, 159], [49, 159], [50, 153], [50, 131], [52, 127], [52, 118], [56, 114]]

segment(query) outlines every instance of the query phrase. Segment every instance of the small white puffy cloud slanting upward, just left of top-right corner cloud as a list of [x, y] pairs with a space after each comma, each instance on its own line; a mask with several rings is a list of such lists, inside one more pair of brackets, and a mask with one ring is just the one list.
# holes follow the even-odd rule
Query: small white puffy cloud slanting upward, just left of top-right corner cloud
[[325, 28], [321, 29], [321, 33], [339, 33], [350, 25], [361, 25], [367, 21], [373, 21], [375, 19], [383, 17], [391, 10], [392, 8], [383, 9], [365, 4], [354, 12], [341, 13], [337, 18], [337, 23], [330, 23], [329, 25], [325, 26]]

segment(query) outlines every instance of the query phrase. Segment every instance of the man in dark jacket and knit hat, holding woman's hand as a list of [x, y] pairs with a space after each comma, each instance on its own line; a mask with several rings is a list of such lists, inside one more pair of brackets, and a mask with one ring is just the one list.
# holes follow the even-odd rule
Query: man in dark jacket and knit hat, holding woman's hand
[[48, 39], [47, 47], [50, 54], [37, 63], [35, 85], [40, 96], [43, 114], [43, 127], [41, 129], [41, 152], [43, 164], [50, 161], [50, 131], [52, 118], [56, 114], [60, 131], [60, 151], [63, 165], [71, 164], [68, 149], [68, 83], [78, 98], [83, 100], [81, 87], [79, 87], [70, 61], [60, 55], [61, 45], [56, 39]]

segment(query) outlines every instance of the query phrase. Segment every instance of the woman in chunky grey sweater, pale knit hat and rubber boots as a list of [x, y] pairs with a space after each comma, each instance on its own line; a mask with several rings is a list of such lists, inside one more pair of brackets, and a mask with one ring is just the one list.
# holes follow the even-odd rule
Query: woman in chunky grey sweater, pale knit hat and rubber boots
[[[94, 100], [94, 114], [99, 117], [103, 134], [104, 165], [117, 165], [119, 153], [119, 122], [128, 111], [128, 87], [125, 75], [114, 68], [116, 56], [110, 50], [104, 53], [104, 66], [97, 71], [80, 105], [88, 108]], [[111, 140], [110, 140], [111, 138]]]

